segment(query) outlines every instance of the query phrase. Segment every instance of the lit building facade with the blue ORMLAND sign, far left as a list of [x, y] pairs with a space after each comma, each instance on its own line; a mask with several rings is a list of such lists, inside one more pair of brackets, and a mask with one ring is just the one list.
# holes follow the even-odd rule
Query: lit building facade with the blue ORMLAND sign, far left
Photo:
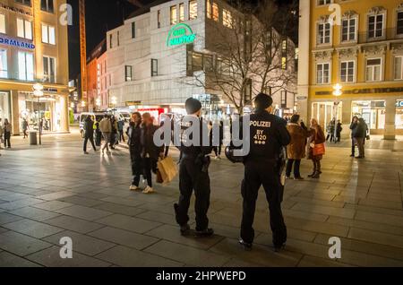
[[[59, 22], [64, 0], [0, 1], [0, 117], [21, 134], [26, 118], [30, 129], [68, 132], [67, 26]], [[62, 7], [63, 8], [63, 7]], [[63, 10], [64, 11], [64, 10]], [[41, 83], [44, 96], [33, 95]]]

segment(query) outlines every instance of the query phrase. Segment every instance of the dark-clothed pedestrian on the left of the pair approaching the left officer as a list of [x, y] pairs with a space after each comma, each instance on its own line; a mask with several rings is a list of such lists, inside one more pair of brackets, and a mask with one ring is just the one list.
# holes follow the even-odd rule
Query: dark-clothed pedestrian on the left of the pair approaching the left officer
[[139, 188], [140, 178], [142, 174], [141, 166], [141, 114], [135, 112], [132, 114], [132, 119], [127, 128], [128, 145], [130, 151], [130, 160], [132, 164], [133, 181], [130, 186], [131, 191], [141, 190]]

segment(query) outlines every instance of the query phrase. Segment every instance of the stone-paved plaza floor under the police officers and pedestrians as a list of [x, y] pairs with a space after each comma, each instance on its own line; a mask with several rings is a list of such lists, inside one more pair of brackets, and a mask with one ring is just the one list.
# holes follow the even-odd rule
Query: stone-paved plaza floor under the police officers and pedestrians
[[[184, 238], [173, 210], [177, 178], [156, 194], [133, 193], [127, 149], [84, 155], [76, 134], [57, 138], [45, 136], [41, 148], [17, 138], [1, 152], [0, 266], [403, 266], [403, 142], [370, 142], [365, 160], [349, 157], [348, 142], [331, 146], [320, 180], [288, 180], [289, 238], [274, 253], [262, 191], [253, 251], [237, 244], [242, 165], [212, 161], [216, 235]], [[309, 161], [302, 172], [311, 173]], [[60, 258], [64, 237], [73, 259]], [[341, 238], [338, 261], [328, 255], [331, 237]]]

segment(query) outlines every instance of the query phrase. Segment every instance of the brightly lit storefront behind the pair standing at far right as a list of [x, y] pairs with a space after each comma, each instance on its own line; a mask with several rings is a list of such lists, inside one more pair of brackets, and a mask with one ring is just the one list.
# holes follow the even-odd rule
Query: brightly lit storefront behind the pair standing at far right
[[385, 129], [386, 102], [384, 100], [353, 101], [351, 108], [352, 117], [364, 118], [372, 131]]

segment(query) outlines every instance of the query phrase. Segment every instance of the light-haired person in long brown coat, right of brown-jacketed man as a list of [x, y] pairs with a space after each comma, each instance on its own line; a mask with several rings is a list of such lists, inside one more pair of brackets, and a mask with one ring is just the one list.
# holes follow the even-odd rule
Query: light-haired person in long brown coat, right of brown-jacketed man
[[[314, 179], [319, 179], [322, 174], [322, 165], [321, 165], [321, 160], [323, 159], [323, 154], [324, 154], [324, 142], [326, 142], [325, 135], [322, 131], [321, 125], [318, 124], [318, 121], [316, 119], [311, 120], [311, 132], [312, 135], [308, 139], [307, 143], [307, 158], [308, 160], [313, 161], [313, 174], [308, 175], [308, 177], [312, 177]], [[322, 154], [315, 153], [315, 148], [318, 148], [319, 146], [322, 146], [323, 151]]]

